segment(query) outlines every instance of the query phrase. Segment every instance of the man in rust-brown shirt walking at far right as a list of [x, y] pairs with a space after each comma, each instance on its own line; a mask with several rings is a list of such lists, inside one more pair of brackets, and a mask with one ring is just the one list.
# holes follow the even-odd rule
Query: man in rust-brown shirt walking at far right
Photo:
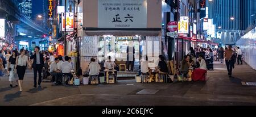
[[229, 77], [232, 76], [232, 68], [233, 68], [233, 60], [232, 60], [232, 45], [228, 46], [228, 49], [226, 49], [224, 56], [225, 56], [225, 61], [226, 61], [226, 68], [228, 69], [228, 75]]

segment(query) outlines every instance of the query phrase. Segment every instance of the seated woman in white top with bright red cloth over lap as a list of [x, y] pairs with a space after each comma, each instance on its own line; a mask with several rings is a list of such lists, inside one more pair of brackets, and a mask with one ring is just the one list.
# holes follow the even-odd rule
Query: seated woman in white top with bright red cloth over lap
[[193, 81], [205, 81], [205, 73], [207, 73], [207, 66], [204, 60], [204, 55], [199, 55], [200, 67], [195, 69], [192, 73]]

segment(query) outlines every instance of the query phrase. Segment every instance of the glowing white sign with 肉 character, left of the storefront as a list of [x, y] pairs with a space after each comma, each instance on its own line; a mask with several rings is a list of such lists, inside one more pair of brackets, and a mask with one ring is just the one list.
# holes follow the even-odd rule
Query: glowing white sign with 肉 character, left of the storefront
[[[61, 14], [61, 31], [65, 31], [65, 12]], [[74, 14], [73, 12], [66, 12], [66, 31], [74, 31]]]

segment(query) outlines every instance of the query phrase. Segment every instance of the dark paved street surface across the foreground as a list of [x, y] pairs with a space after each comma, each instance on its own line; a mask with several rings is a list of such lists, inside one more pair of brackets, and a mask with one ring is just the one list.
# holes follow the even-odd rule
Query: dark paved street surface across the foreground
[[[236, 65], [233, 78], [225, 65], [214, 62], [207, 82], [136, 83], [86, 86], [33, 87], [33, 74], [27, 70], [22, 93], [10, 88], [7, 77], [0, 81], [0, 105], [256, 105], [256, 86], [243, 86], [241, 81], [256, 82], [256, 72], [249, 65]], [[127, 85], [133, 84], [133, 85]], [[155, 94], [137, 94], [143, 89], [159, 90]]]

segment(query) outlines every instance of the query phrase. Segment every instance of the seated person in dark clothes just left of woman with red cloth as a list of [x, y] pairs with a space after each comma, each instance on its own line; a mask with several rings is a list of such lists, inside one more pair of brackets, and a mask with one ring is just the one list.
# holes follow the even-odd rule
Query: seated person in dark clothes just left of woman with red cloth
[[188, 78], [188, 69], [189, 69], [189, 64], [190, 64], [189, 60], [190, 60], [190, 57], [188, 55], [185, 55], [181, 62], [180, 72], [183, 74], [184, 80], [187, 80], [187, 78]]

